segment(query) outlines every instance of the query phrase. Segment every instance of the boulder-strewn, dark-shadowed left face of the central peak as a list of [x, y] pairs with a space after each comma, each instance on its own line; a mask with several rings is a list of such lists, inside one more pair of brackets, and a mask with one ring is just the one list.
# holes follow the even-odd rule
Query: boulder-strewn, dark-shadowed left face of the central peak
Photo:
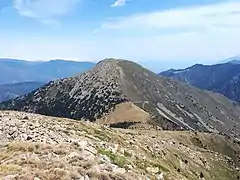
[[3, 108], [94, 121], [127, 101], [119, 87], [120, 76], [114, 63], [102, 62], [92, 71], [50, 82]]

